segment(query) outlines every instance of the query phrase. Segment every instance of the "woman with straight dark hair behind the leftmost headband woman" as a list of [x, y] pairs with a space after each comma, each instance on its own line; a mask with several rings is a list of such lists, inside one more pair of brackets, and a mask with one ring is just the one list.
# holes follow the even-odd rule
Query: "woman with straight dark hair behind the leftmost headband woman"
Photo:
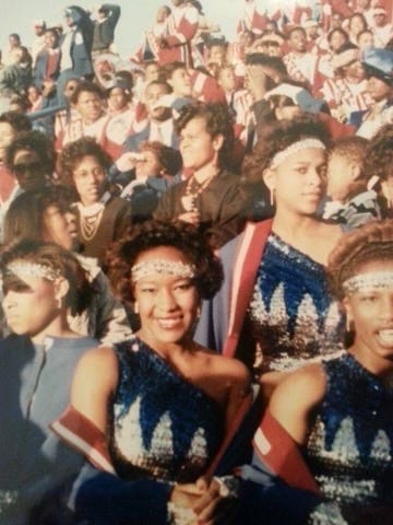
[[[75, 252], [79, 246], [73, 192], [64, 186], [25, 191], [11, 203], [4, 221], [4, 244], [22, 238], [56, 243]], [[92, 299], [82, 313], [69, 313], [70, 327], [105, 345], [123, 341], [132, 332], [127, 312], [110, 290], [108, 278], [96, 259], [76, 255], [87, 273]], [[1, 318], [0, 311], [0, 318]]]

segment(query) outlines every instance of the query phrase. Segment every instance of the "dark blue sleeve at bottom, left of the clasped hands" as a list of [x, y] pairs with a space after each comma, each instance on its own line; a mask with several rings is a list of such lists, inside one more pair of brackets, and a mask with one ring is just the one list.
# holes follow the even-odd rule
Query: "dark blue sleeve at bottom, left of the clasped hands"
[[73, 485], [69, 506], [90, 525], [166, 525], [169, 483], [122, 480], [85, 465]]

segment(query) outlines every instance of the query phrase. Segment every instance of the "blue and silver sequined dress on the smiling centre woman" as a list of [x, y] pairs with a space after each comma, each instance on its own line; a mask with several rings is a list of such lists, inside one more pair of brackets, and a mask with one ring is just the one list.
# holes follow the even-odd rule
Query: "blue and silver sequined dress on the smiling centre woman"
[[194, 481], [223, 440], [218, 405], [140, 339], [117, 345], [116, 352], [120, 376], [108, 445], [117, 474]]

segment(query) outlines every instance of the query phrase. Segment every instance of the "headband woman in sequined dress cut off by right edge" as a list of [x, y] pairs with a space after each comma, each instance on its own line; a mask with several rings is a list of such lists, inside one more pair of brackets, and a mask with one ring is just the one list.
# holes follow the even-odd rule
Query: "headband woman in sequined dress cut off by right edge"
[[[353, 341], [345, 354], [308, 364], [277, 386], [254, 436], [257, 454], [247, 475], [261, 482], [267, 467], [294, 488], [287, 487], [289, 493], [302, 497], [302, 506], [289, 506], [285, 518], [275, 509], [269, 524], [295, 523], [296, 515], [296, 523], [386, 525], [393, 515], [392, 221], [343, 236], [327, 272]], [[279, 463], [278, 456], [286, 459]], [[282, 490], [276, 486], [266, 497], [262, 487], [253, 489], [246, 508], [249, 497], [262, 509]], [[252, 509], [253, 517], [242, 523], [262, 523]]]

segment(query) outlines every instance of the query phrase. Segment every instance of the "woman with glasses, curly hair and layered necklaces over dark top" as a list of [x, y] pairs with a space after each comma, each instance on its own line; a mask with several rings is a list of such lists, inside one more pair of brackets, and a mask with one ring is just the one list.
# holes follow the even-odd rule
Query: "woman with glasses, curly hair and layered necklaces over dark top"
[[110, 156], [91, 137], [68, 144], [59, 159], [60, 180], [71, 187], [75, 203], [81, 253], [104, 264], [112, 241], [121, 238], [131, 225], [130, 205], [106, 189]]

